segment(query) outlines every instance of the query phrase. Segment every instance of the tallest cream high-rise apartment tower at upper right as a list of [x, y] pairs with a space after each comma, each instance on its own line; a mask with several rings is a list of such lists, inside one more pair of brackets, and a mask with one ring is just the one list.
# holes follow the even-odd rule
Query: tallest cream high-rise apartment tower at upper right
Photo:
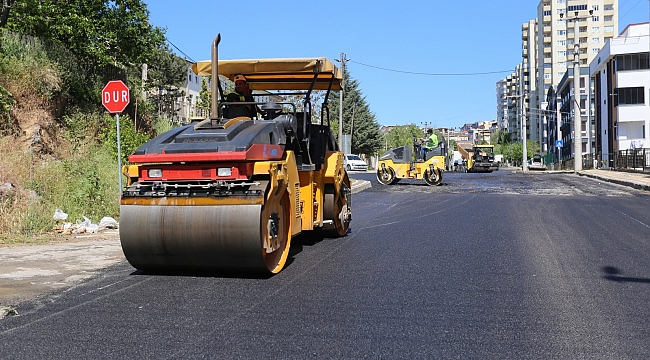
[[[546, 108], [549, 88], [556, 88], [567, 69], [573, 68], [574, 21], [578, 22], [580, 66], [587, 66], [618, 33], [618, 0], [541, 0], [537, 18], [536, 99], [539, 108]], [[550, 120], [539, 121], [548, 126]], [[587, 121], [586, 115], [582, 121]], [[547, 140], [540, 139], [543, 143]]]

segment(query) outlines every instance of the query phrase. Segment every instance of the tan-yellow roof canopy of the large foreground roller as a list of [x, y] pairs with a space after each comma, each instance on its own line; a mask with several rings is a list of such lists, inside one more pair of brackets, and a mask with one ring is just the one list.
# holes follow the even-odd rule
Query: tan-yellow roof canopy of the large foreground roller
[[[212, 62], [199, 61], [192, 71], [201, 76], [211, 75]], [[340, 90], [341, 71], [327, 58], [219, 60], [219, 75], [230, 80], [235, 75], [246, 77], [252, 90], [308, 90], [317, 74], [314, 90]]]

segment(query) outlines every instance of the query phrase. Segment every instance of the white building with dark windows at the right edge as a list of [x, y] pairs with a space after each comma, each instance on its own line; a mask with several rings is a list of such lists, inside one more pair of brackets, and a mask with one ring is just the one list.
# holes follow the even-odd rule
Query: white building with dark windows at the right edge
[[650, 24], [628, 25], [589, 66], [596, 152], [612, 166], [620, 150], [650, 148]]

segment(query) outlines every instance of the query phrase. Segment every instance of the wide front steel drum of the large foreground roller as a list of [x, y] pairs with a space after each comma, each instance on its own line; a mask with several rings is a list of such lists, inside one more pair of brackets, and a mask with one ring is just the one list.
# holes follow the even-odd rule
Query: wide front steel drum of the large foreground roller
[[[280, 230], [282, 244], [273, 252], [279, 254], [267, 254], [263, 211], [262, 205], [122, 205], [122, 249], [129, 263], [143, 270], [275, 272], [282, 252], [288, 252], [288, 240]], [[281, 228], [286, 229], [286, 221]]]

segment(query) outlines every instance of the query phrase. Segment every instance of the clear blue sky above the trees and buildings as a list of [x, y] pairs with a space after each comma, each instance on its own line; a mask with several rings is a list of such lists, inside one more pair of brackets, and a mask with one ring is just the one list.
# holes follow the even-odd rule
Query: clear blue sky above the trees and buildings
[[[341, 53], [380, 125], [461, 127], [496, 119], [496, 83], [521, 62], [538, 0], [145, 0], [175, 53], [209, 60]], [[619, 0], [619, 32], [650, 0]], [[181, 5], [182, 4], [182, 5]], [[340, 65], [337, 63], [337, 65]]]

